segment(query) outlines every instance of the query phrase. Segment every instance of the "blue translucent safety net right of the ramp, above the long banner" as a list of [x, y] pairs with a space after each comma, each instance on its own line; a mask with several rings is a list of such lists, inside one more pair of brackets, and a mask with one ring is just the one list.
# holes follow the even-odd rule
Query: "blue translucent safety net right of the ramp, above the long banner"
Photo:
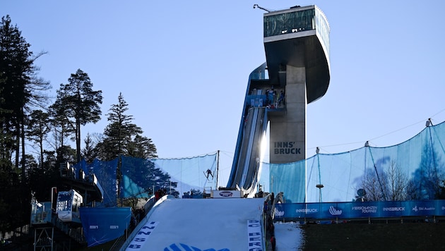
[[[432, 200], [445, 180], [445, 123], [390, 147], [316, 154], [290, 164], [263, 163], [260, 183], [285, 202]], [[266, 181], [267, 180], [267, 181]]]

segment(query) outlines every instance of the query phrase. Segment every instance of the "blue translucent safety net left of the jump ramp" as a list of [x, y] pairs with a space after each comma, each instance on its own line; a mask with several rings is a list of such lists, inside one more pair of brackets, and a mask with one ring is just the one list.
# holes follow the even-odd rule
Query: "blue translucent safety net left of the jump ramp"
[[81, 161], [74, 168], [76, 173], [83, 169], [95, 174], [104, 191], [102, 205], [112, 207], [118, 198], [150, 197], [158, 190], [182, 197], [191, 190], [215, 189], [216, 157], [217, 152], [177, 159], [118, 157], [112, 161]]

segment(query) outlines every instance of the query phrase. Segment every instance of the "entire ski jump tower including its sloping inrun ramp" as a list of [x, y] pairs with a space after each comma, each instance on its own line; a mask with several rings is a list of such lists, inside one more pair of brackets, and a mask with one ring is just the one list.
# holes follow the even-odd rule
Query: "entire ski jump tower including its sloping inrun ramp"
[[[258, 7], [254, 5], [254, 8]], [[227, 188], [255, 192], [261, 145], [270, 125], [270, 163], [306, 159], [306, 107], [324, 96], [331, 78], [329, 25], [317, 6], [268, 11], [263, 16], [266, 63], [249, 75]], [[268, 73], [268, 78], [266, 78]], [[299, 171], [305, 189], [305, 169]], [[300, 175], [299, 175], [300, 176]], [[304, 200], [304, 192], [302, 196]]]

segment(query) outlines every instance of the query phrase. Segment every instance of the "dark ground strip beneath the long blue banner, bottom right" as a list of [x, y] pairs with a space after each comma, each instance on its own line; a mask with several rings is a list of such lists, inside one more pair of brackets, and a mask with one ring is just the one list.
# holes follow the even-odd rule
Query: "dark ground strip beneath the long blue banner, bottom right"
[[307, 224], [304, 250], [445, 250], [445, 222]]

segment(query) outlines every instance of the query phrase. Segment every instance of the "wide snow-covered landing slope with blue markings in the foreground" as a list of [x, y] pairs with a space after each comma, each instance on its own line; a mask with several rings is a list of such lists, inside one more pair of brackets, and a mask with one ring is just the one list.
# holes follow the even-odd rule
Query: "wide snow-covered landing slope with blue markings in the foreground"
[[263, 198], [165, 199], [141, 221], [126, 250], [262, 250]]

